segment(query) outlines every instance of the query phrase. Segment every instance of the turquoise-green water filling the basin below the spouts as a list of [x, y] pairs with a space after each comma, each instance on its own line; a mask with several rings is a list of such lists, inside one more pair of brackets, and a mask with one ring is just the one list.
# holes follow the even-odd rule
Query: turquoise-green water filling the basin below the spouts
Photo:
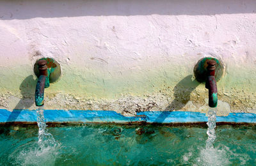
[[256, 126], [47, 127], [57, 144], [38, 144], [38, 128], [0, 127], [0, 165], [255, 165]]

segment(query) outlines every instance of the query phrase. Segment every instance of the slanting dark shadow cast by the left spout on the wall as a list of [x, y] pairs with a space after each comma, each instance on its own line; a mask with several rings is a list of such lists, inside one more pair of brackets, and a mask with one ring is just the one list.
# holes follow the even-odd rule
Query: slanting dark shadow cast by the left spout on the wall
[[4, 126], [3, 128], [0, 128], [0, 134], [1, 133], [10, 133], [11, 127], [13, 124], [15, 124], [15, 120], [19, 116], [20, 112], [24, 109], [29, 109], [34, 103], [35, 98], [31, 98], [31, 94], [35, 94], [35, 88], [36, 88], [36, 80], [33, 78], [33, 75], [29, 75], [24, 79], [20, 84], [20, 94], [22, 95], [22, 98], [20, 99], [19, 103], [15, 106], [12, 113], [6, 120], [8, 123], [8, 126]]

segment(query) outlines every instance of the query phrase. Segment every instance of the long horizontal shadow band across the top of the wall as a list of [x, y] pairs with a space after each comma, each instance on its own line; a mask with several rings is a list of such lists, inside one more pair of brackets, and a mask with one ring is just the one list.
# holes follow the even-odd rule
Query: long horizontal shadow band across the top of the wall
[[255, 13], [254, 0], [24, 0], [0, 1], [0, 20], [129, 15]]

